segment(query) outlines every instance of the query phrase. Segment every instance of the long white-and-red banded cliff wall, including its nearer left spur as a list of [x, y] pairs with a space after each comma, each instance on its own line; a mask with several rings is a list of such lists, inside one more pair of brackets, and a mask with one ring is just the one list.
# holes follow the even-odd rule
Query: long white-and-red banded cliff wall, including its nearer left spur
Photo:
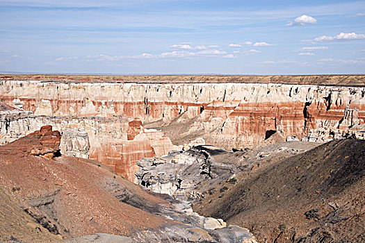
[[343, 86], [3, 80], [0, 100], [32, 114], [3, 115], [0, 131], [11, 140], [46, 121], [59, 131], [73, 129], [71, 142], [61, 142], [64, 151], [89, 154], [133, 180], [137, 160], [196, 137], [226, 149], [260, 144], [274, 133], [364, 139], [364, 96], [364, 87]]

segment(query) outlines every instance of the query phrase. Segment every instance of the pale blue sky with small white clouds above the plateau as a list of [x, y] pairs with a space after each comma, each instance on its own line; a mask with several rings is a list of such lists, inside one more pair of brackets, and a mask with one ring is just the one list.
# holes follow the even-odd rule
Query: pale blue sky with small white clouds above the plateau
[[0, 72], [364, 74], [365, 1], [0, 0]]

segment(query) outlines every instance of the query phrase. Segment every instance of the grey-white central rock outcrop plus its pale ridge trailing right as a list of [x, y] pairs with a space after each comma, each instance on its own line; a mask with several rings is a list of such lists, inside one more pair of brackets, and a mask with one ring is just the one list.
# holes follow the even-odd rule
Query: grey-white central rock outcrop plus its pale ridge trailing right
[[152, 192], [168, 194], [175, 199], [197, 203], [206, 196], [228, 190], [236, 184], [236, 175], [265, 167], [318, 146], [311, 142], [284, 142], [233, 152], [215, 146], [193, 146], [187, 151], [170, 151], [161, 158], [143, 158], [135, 183]]

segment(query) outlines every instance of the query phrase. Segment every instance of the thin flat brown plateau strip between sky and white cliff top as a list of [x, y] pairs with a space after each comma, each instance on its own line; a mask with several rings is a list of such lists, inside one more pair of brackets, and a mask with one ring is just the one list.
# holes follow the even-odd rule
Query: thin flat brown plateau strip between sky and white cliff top
[[45, 83], [263, 84], [365, 87], [365, 75], [66, 75], [5, 74], [0, 81]]

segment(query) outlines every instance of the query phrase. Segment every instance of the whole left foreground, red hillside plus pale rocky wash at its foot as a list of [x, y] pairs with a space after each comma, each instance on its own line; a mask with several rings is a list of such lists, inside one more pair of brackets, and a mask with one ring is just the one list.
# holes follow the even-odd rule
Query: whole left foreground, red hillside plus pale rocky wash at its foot
[[60, 133], [43, 126], [0, 146], [1, 242], [255, 242], [247, 229], [197, 215], [93, 160], [50, 156], [59, 144]]

